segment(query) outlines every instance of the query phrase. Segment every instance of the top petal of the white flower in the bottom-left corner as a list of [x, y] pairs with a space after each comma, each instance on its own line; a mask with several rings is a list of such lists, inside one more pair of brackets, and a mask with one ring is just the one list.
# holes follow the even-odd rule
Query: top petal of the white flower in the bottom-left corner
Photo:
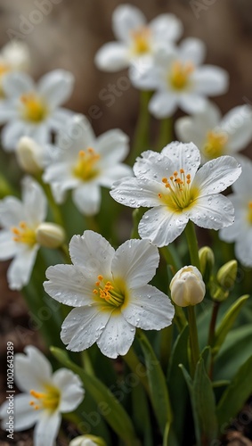
[[15, 383], [22, 392], [29, 393], [30, 390], [41, 392], [44, 384], [51, 381], [53, 373], [51, 363], [33, 345], [25, 347], [24, 352], [26, 354], [17, 353], [14, 358]]

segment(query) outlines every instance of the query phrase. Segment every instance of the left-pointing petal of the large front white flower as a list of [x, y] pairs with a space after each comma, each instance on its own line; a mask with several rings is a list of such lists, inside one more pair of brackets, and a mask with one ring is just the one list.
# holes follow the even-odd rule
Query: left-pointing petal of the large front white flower
[[55, 301], [72, 307], [82, 307], [93, 303], [93, 286], [97, 281], [98, 273], [93, 280], [86, 280], [82, 270], [76, 266], [55, 265], [46, 269], [45, 276], [49, 280], [44, 282], [45, 291]]

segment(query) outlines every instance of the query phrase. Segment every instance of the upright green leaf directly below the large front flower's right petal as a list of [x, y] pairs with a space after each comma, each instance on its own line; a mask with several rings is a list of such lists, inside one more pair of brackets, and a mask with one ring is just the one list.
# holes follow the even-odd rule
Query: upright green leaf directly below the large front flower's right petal
[[167, 422], [172, 422], [172, 410], [166, 378], [147, 337], [141, 330], [137, 331], [137, 335], [145, 359], [146, 372], [150, 385], [150, 400], [159, 422], [159, 428], [164, 433]]

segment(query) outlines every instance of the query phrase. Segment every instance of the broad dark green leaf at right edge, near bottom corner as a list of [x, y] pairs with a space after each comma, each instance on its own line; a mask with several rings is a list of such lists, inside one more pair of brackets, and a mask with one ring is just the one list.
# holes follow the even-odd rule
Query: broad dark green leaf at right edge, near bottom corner
[[[251, 345], [250, 345], [251, 349]], [[220, 429], [238, 415], [244, 402], [252, 392], [252, 355], [241, 366], [226, 388], [216, 409]]]

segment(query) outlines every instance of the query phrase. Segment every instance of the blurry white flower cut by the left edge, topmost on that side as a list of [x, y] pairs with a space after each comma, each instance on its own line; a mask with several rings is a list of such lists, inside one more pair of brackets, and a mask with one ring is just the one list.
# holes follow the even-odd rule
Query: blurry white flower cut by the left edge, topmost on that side
[[12, 40], [1, 49], [0, 52], [0, 94], [4, 76], [12, 71], [26, 71], [30, 65], [28, 46], [24, 42]]

